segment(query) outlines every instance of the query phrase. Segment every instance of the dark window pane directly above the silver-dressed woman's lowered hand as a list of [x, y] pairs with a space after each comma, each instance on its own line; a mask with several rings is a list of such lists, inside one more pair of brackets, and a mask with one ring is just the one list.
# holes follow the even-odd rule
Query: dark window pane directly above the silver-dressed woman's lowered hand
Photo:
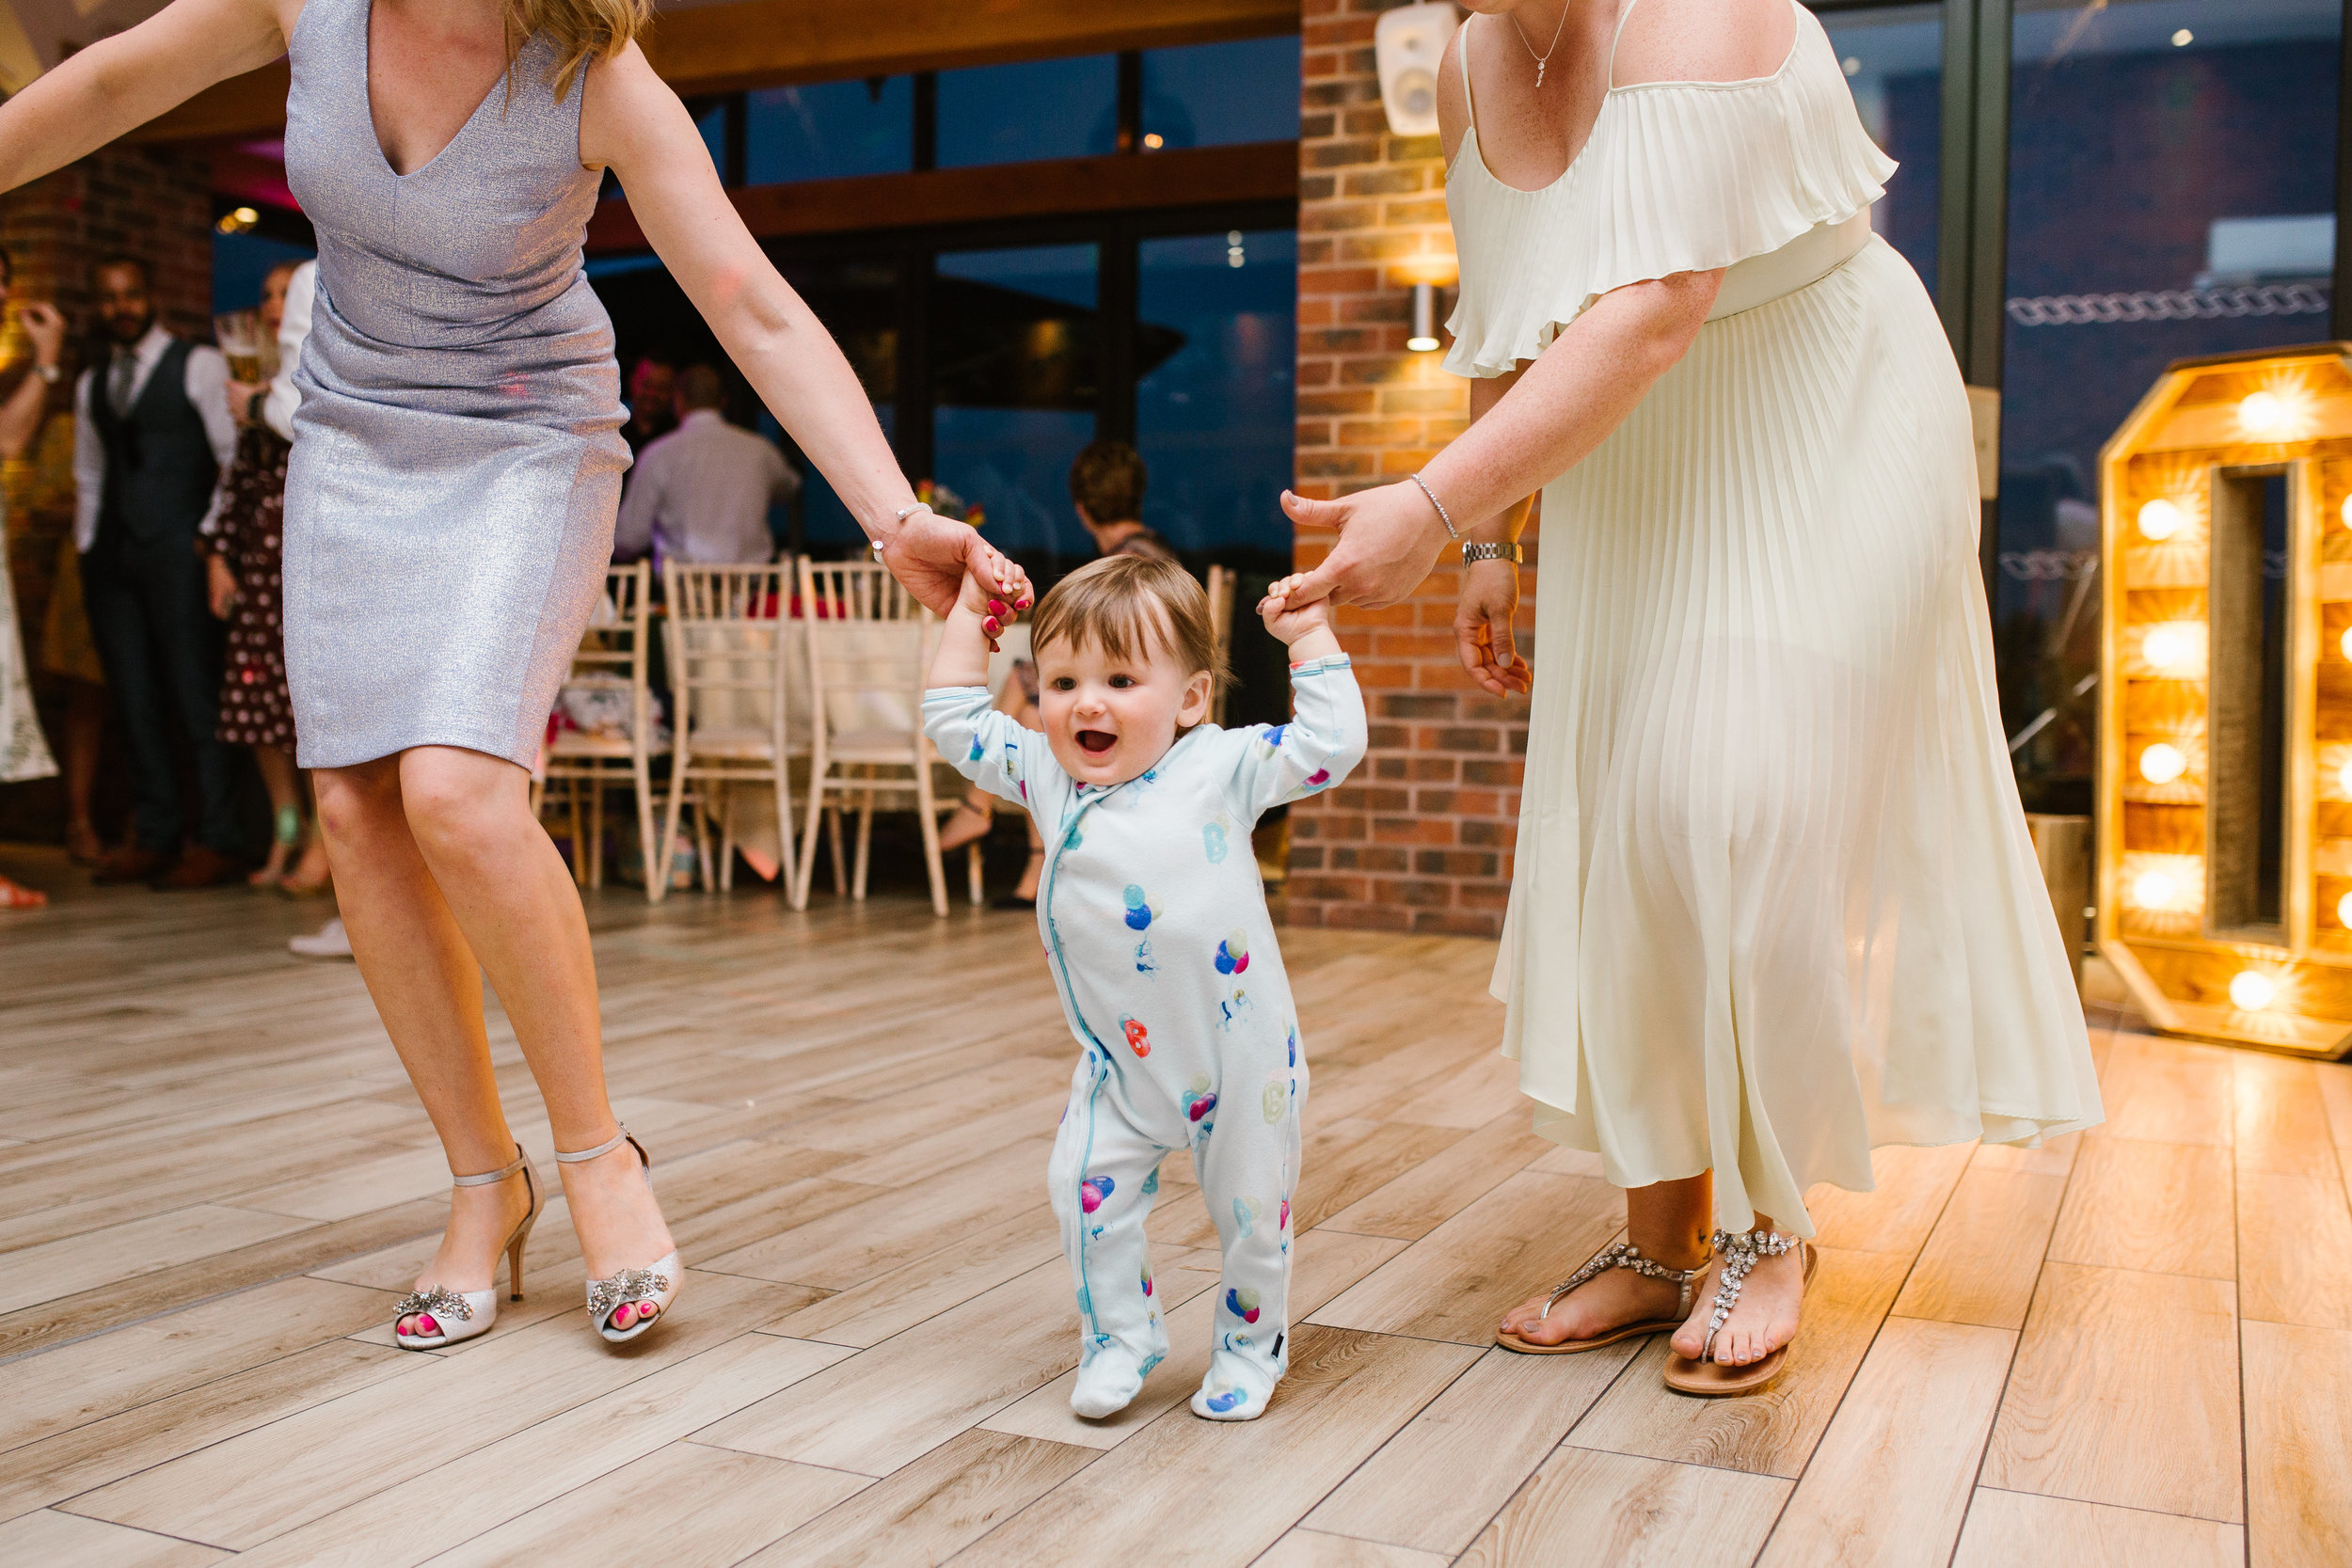
[[1096, 303], [1091, 244], [938, 256], [934, 477], [985, 508], [990, 543], [1033, 571], [1094, 555], [1068, 480], [1101, 404]]

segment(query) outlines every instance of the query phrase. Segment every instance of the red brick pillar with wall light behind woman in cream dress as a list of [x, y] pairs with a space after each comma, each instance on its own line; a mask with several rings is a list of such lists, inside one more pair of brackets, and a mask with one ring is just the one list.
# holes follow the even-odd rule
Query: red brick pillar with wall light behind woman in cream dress
[[[1402, 0], [1303, 0], [1298, 127], [1298, 494], [1345, 496], [1421, 468], [1470, 411], [1470, 383], [1409, 353], [1411, 284], [1454, 282], [1435, 136], [1390, 136], [1371, 28]], [[1439, 292], [1439, 301], [1446, 292]], [[1444, 310], [1439, 310], [1444, 315]], [[1298, 564], [1329, 536], [1301, 531]], [[1446, 550], [1454, 557], [1454, 550]], [[1289, 919], [1494, 936], [1510, 889], [1526, 703], [1470, 684], [1454, 654], [1461, 567], [1406, 604], [1343, 609], [1371, 755], [1291, 806]], [[1522, 646], [1534, 574], [1524, 574]]]

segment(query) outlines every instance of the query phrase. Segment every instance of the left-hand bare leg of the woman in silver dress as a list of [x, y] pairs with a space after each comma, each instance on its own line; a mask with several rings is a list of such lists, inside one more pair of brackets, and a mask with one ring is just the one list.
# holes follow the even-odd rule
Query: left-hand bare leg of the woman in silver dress
[[[482, 1032], [482, 971], [409, 832], [400, 759], [318, 769], [318, 820], [343, 884], [343, 922], [367, 994], [409, 1070], [452, 1175], [496, 1171], [515, 1157]], [[416, 1276], [423, 1286], [487, 1291], [499, 1248], [522, 1220], [522, 1180], [454, 1187], [449, 1229]], [[402, 1319], [407, 1328], [407, 1319]]]

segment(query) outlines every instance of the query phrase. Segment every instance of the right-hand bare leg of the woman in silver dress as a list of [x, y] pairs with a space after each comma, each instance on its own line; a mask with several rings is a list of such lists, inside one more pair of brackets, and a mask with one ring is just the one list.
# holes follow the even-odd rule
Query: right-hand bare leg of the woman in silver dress
[[[400, 755], [400, 799], [416, 851], [440, 889], [452, 931], [480, 959], [515, 1025], [548, 1105], [555, 1147], [593, 1150], [616, 1124], [604, 1095], [588, 917], [572, 872], [532, 818], [529, 783], [520, 766], [485, 752], [421, 745]], [[334, 860], [343, 922], [365, 971], [367, 947], [343, 884], [343, 856]], [[670, 1232], [633, 1147], [623, 1143], [602, 1159], [564, 1164], [560, 1175], [590, 1279], [644, 1267], [670, 1251]]]

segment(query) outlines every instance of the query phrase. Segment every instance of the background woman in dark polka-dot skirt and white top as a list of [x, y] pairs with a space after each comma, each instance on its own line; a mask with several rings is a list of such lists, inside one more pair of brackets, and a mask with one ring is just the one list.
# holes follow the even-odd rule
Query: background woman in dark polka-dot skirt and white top
[[[261, 381], [230, 381], [228, 411], [238, 421], [238, 461], [223, 482], [219, 527], [207, 541], [212, 614], [228, 623], [221, 661], [221, 724], [228, 745], [254, 748], [254, 766], [270, 792], [275, 830], [270, 856], [254, 886], [285, 884], [310, 893], [327, 882], [327, 849], [310, 835], [301, 867], [287, 875], [303, 844], [303, 778], [294, 766], [294, 701], [287, 696], [285, 628], [278, 607], [285, 548], [287, 454], [294, 451], [294, 362], [310, 329], [318, 263], [285, 261], [261, 280]], [[282, 383], [282, 386], [280, 386]]]

